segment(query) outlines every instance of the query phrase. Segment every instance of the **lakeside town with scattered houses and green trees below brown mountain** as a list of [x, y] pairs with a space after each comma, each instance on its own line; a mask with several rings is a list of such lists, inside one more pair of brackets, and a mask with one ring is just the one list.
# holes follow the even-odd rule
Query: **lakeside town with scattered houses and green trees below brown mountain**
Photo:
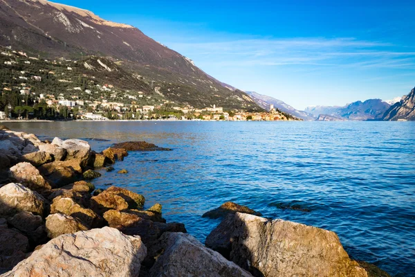
[[273, 105], [250, 112], [179, 104], [140, 75], [134, 76], [138, 84], [151, 90], [120, 88], [106, 75], [118, 69], [102, 58], [42, 60], [11, 48], [0, 58], [0, 120], [299, 120]]

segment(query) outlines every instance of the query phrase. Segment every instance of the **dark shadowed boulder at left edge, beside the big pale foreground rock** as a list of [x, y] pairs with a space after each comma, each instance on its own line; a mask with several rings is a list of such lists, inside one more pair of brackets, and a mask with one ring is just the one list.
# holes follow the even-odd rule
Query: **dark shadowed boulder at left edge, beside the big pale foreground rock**
[[0, 225], [0, 270], [10, 270], [26, 258], [29, 240], [14, 229]]

